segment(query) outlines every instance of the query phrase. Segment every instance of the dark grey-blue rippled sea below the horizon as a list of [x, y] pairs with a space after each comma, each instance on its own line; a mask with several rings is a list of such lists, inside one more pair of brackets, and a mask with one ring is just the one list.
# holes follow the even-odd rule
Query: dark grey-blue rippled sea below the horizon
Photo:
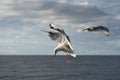
[[120, 80], [120, 56], [0, 56], [0, 80]]

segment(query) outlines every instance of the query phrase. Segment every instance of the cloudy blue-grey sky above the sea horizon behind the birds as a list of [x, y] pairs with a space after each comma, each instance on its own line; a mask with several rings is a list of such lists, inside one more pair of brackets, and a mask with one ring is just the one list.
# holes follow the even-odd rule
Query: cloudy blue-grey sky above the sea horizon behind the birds
[[[50, 23], [65, 30], [77, 55], [120, 55], [120, 0], [0, 0], [0, 55], [53, 55], [56, 43], [40, 31]], [[96, 25], [110, 36], [79, 31]]]

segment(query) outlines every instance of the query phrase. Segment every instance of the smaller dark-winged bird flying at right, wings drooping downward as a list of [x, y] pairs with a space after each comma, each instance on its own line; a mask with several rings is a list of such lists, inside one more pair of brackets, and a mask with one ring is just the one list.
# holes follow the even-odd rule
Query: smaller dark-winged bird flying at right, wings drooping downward
[[82, 29], [82, 31], [89, 31], [89, 32], [103, 32], [106, 34], [106, 36], [109, 36], [109, 29], [100, 25], [100, 26], [95, 26], [95, 27], [88, 27], [85, 29]]

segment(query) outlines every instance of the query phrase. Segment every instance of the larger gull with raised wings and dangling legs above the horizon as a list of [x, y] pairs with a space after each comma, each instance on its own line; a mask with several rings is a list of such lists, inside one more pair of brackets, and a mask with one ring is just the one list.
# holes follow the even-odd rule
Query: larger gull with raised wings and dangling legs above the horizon
[[53, 40], [57, 42], [57, 47], [54, 49], [54, 56], [56, 56], [56, 54], [59, 51], [63, 51], [67, 54], [67, 58], [66, 58], [66, 63], [70, 63], [70, 56], [72, 57], [76, 57], [76, 54], [73, 52], [73, 48], [71, 45], [71, 41], [69, 36], [65, 33], [65, 31], [54, 24], [49, 24], [50, 28], [56, 31], [45, 31], [42, 30], [43, 32], [47, 32], [49, 37]]

